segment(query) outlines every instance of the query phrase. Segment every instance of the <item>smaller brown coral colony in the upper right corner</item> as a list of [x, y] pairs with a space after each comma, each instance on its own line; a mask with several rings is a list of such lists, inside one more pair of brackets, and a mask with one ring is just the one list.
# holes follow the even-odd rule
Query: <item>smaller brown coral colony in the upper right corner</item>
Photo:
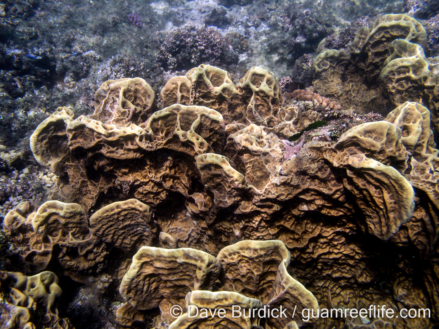
[[437, 59], [426, 58], [424, 27], [405, 14], [378, 18], [358, 30], [350, 53], [324, 49], [314, 60], [314, 89], [343, 110], [380, 112], [416, 101], [428, 106], [438, 127]]

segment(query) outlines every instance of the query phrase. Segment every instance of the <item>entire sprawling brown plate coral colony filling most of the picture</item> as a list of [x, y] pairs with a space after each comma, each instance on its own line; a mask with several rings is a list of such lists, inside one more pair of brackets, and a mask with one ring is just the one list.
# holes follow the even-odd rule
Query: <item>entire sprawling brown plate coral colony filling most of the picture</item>
[[[75, 119], [58, 108], [32, 134], [37, 161], [59, 176], [51, 198], [62, 202], [8, 213], [11, 257], [26, 274], [50, 269], [115, 293], [125, 301], [115, 311], [123, 328], [157, 307], [158, 328], [431, 327], [439, 311], [439, 151], [425, 106], [432, 103], [420, 103], [419, 86], [432, 77], [417, 72], [409, 89], [422, 99], [395, 91], [397, 107], [374, 107], [387, 87], [369, 84], [387, 65], [391, 83], [395, 63], [424, 60], [423, 43], [414, 19], [386, 15], [360, 30], [351, 54], [320, 54], [320, 85], [288, 98], [258, 67], [235, 85], [227, 71], [200, 65], [166, 83], [160, 110], [140, 78], [103, 83], [94, 114]], [[324, 91], [328, 70], [338, 94], [324, 98], [315, 91]], [[347, 73], [361, 99], [349, 98]], [[342, 113], [351, 108], [382, 110], [385, 119]], [[342, 116], [349, 127], [339, 127]], [[98, 285], [104, 277], [109, 283]], [[430, 308], [432, 318], [308, 322], [301, 314], [371, 304]], [[190, 318], [189, 305], [221, 306], [227, 316]], [[282, 305], [289, 316], [236, 319], [230, 305]]]

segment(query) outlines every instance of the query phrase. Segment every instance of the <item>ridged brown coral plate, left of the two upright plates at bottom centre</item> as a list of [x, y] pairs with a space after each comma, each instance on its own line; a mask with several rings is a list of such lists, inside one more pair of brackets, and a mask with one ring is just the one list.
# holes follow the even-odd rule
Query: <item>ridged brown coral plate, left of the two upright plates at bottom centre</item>
[[120, 294], [138, 310], [160, 306], [162, 319], [170, 324], [170, 307], [184, 307], [192, 290], [212, 289], [220, 267], [215, 257], [200, 250], [141, 247], [122, 279]]

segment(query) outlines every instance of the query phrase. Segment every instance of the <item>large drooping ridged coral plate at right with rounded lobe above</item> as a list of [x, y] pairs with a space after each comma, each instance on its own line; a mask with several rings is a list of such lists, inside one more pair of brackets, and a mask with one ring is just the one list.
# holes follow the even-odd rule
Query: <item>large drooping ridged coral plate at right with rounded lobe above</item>
[[345, 168], [343, 184], [356, 196], [369, 231], [381, 239], [394, 234], [414, 210], [413, 188], [398, 170], [389, 166], [392, 160], [396, 164], [405, 160], [400, 154], [400, 138], [400, 129], [386, 121], [363, 123], [340, 137], [334, 145], [337, 153], [328, 152], [325, 156], [335, 167]]

